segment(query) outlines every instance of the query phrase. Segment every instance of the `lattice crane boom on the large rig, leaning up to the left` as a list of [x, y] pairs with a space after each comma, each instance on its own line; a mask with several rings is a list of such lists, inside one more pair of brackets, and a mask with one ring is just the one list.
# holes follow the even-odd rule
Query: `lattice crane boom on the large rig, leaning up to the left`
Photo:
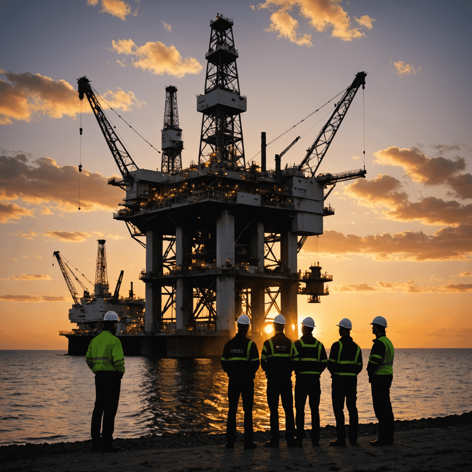
[[93, 114], [95, 118], [97, 118], [98, 124], [100, 125], [101, 132], [105, 137], [105, 140], [110, 148], [111, 153], [113, 154], [113, 158], [117, 163], [117, 166], [121, 172], [123, 177], [122, 182], [110, 182], [112, 185], [118, 185], [120, 187], [124, 187], [124, 185], [128, 182], [132, 181], [132, 177], [130, 172], [133, 170], [138, 169], [138, 166], [135, 164], [135, 161], [130, 156], [129, 152], [126, 150], [124, 144], [119, 139], [118, 135], [116, 134], [113, 126], [111, 126], [110, 122], [108, 121], [105, 113], [101, 109], [101, 106], [93, 93], [92, 87], [90, 86], [90, 81], [87, 79], [86, 76], [80, 77], [77, 79], [78, 84], [78, 92], [79, 92], [79, 99], [84, 99], [84, 94], [87, 96], [87, 100], [92, 107]]

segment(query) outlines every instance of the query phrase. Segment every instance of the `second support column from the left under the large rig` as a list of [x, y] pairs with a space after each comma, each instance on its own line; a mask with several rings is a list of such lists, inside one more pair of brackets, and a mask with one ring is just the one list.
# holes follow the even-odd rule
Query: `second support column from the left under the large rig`
[[[185, 256], [191, 253], [188, 228], [176, 226], [176, 266], [185, 270]], [[194, 295], [190, 278], [180, 277], [176, 281], [176, 328], [188, 331], [194, 311]]]

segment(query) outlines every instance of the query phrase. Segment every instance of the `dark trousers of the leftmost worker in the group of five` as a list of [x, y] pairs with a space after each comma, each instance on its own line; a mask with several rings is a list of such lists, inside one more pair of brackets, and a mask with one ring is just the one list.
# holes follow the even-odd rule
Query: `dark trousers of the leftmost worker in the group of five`
[[254, 380], [229, 379], [228, 381], [228, 420], [226, 422], [226, 441], [236, 441], [236, 412], [239, 396], [243, 400], [244, 411], [244, 442], [253, 442], [253, 404]]

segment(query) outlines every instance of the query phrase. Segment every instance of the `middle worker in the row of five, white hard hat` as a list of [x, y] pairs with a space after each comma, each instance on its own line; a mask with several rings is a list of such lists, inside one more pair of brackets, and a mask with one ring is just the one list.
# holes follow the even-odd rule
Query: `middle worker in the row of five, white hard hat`
[[320, 444], [320, 375], [326, 369], [328, 356], [324, 346], [313, 337], [315, 322], [311, 316], [302, 321], [302, 337], [295, 341], [298, 357], [295, 360], [295, 425], [296, 445], [303, 446], [305, 437], [305, 403], [312, 413], [311, 440], [313, 446]]

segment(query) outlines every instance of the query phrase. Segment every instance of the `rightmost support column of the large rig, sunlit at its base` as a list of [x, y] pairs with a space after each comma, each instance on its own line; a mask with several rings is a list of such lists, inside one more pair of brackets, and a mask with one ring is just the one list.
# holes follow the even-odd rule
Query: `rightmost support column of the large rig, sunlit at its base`
[[[297, 235], [291, 231], [282, 231], [280, 234], [280, 264], [282, 271], [297, 273]], [[285, 334], [295, 340], [298, 338], [298, 279], [286, 282], [280, 288], [280, 310], [287, 321]]]

